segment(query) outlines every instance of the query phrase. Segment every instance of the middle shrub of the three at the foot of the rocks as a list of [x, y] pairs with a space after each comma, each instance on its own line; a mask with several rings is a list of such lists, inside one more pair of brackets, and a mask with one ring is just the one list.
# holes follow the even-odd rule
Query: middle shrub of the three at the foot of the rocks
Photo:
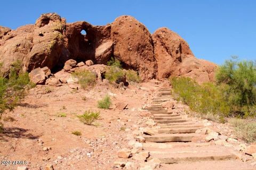
[[124, 71], [116, 66], [110, 66], [105, 73], [105, 78], [109, 80], [109, 82], [122, 82], [124, 76]]

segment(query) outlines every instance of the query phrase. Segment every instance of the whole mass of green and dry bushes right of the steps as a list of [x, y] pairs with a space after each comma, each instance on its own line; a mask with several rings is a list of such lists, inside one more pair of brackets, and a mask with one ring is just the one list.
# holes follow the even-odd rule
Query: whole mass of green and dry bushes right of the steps
[[237, 135], [256, 140], [256, 64], [236, 57], [218, 67], [215, 83], [198, 84], [190, 78], [171, 78], [173, 96], [203, 118], [220, 123], [229, 118]]

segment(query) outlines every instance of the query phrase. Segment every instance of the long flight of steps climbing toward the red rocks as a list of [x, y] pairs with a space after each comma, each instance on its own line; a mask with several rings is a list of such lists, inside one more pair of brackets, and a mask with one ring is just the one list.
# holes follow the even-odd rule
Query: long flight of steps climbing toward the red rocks
[[[208, 170], [210, 164], [221, 165], [223, 162], [227, 165], [223, 169], [252, 169], [238, 160], [233, 150], [228, 147], [216, 146], [213, 142], [197, 143], [195, 139], [201, 134], [195, 132], [203, 128], [203, 124], [189, 120], [184, 113], [168, 112], [162, 103], [170, 98], [171, 89], [159, 89], [152, 105], [146, 108], [160, 126], [154, 135], [143, 135], [146, 141], [143, 143], [143, 149], [149, 151], [150, 159], [158, 158], [166, 169], [174, 169], [178, 165], [180, 165], [179, 169], [182, 169], [187, 164], [194, 164], [195, 167], [189, 169]], [[197, 162], [207, 162], [207, 164], [201, 166], [196, 164]]]

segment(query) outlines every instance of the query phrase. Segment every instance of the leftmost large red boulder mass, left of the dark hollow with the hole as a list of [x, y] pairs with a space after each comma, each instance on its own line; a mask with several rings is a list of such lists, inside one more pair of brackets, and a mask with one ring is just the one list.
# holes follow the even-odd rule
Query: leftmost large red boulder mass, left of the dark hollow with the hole
[[0, 39], [3, 71], [7, 71], [16, 60], [22, 61], [23, 70], [29, 72], [44, 66], [53, 69], [63, 47], [64, 27], [65, 22], [58, 14], [47, 13], [41, 15], [35, 25], [25, 25], [5, 32]]

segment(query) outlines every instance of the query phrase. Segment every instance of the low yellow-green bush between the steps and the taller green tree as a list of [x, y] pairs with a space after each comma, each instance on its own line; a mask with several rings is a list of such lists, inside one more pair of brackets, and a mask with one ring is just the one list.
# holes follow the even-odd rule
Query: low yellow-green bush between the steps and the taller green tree
[[228, 116], [230, 107], [223, 99], [222, 91], [213, 83], [199, 85], [190, 78], [181, 77], [172, 78], [171, 84], [174, 98], [187, 104], [202, 117], [207, 116], [213, 121], [223, 122], [223, 117]]

